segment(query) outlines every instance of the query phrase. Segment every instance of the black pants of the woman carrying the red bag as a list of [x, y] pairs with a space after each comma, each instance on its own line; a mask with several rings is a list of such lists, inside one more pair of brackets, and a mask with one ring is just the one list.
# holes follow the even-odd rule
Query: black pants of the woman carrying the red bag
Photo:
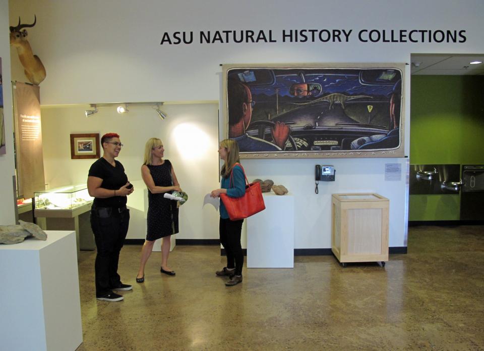
[[228, 218], [220, 218], [219, 224], [220, 243], [227, 255], [227, 268], [235, 268], [236, 275], [242, 274], [244, 266], [244, 253], [240, 245], [242, 223], [244, 223], [243, 219], [231, 221]]

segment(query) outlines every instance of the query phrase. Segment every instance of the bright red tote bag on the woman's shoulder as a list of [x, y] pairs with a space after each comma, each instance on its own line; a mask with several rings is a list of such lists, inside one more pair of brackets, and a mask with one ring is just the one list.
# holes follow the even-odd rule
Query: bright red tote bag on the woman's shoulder
[[[247, 180], [244, 167], [239, 163], [235, 165], [240, 166], [246, 178], [246, 193], [241, 197], [229, 197], [227, 194], [220, 194], [220, 199], [227, 210], [230, 220], [236, 221], [255, 215], [262, 210], [265, 210], [264, 198], [262, 197], [261, 183], [250, 183]], [[235, 167], [234, 165], [234, 167]], [[230, 185], [232, 185], [232, 172], [230, 173]]]

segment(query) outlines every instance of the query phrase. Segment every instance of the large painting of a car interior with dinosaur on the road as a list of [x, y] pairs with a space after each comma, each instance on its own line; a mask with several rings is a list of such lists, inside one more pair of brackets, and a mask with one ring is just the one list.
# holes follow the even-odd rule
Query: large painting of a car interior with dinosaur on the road
[[404, 64], [223, 65], [240, 158], [403, 157]]

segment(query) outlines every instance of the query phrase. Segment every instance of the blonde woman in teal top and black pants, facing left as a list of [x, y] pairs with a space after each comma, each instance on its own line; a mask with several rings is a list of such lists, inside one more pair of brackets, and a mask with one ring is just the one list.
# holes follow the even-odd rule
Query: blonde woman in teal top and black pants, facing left
[[[220, 197], [220, 194], [227, 194], [229, 197], [241, 197], [246, 192], [246, 181], [243, 169], [238, 156], [238, 145], [235, 140], [225, 139], [220, 142], [218, 149], [220, 159], [224, 161], [220, 175], [220, 189], [212, 190], [210, 196]], [[230, 177], [230, 175], [232, 175]], [[230, 279], [225, 282], [226, 286], [236, 285], [242, 282], [242, 267], [244, 266], [244, 253], [240, 245], [243, 219], [231, 221], [227, 210], [220, 201], [220, 243], [225, 248], [227, 255], [227, 266], [216, 271], [218, 276], [228, 276]]]

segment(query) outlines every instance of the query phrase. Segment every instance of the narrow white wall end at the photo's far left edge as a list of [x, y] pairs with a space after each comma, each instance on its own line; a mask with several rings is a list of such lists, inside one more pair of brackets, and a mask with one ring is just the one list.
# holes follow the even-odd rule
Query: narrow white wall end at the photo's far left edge
[[10, 85], [10, 42], [9, 42], [9, 3], [0, 0], [0, 58], [2, 58], [2, 78], [4, 91], [4, 122], [7, 154], [0, 155], [0, 225], [15, 224], [14, 189], [12, 176], [14, 166], [14, 137], [12, 89]]

